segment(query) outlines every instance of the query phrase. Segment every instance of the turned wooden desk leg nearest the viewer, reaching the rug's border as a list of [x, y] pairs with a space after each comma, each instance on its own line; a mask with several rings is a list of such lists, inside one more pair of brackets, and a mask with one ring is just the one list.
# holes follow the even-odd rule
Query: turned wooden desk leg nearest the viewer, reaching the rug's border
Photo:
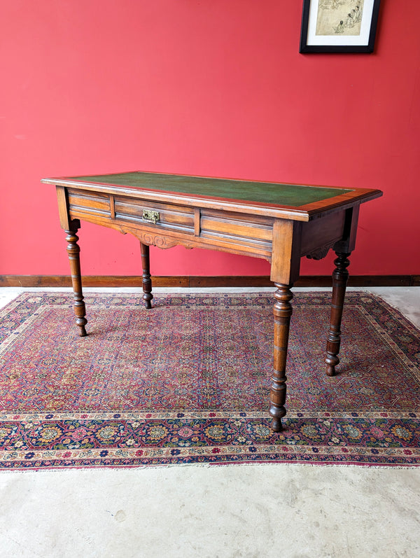
[[288, 335], [292, 305], [290, 300], [293, 293], [290, 291], [292, 285], [274, 283], [277, 287], [274, 293], [276, 302], [274, 304], [274, 372], [269, 392], [269, 414], [273, 417], [272, 430], [280, 432], [283, 429], [281, 417], [286, 414], [284, 403], [286, 402], [286, 358], [288, 347]]

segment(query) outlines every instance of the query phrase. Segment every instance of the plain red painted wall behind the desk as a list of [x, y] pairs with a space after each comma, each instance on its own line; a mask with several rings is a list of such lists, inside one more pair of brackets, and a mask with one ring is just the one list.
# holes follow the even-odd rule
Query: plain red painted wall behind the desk
[[[15, 0], [1, 15], [0, 274], [68, 274], [45, 176], [147, 170], [372, 187], [353, 274], [418, 274], [418, 0], [383, 0], [372, 55], [300, 55], [301, 1]], [[83, 224], [84, 274], [140, 274]], [[327, 274], [332, 256], [302, 260]], [[153, 274], [267, 274], [177, 247]]]

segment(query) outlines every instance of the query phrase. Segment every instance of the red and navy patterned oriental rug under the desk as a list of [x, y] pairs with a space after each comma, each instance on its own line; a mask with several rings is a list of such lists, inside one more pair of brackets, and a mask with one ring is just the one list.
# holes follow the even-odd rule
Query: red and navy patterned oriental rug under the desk
[[24, 293], [0, 311], [0, 466], [420, 463], [420, 334], [349, 293], [339, 374], [325, 375], [330, 293], [293, 300], [285, 428], [267, 413], [269, 293]]

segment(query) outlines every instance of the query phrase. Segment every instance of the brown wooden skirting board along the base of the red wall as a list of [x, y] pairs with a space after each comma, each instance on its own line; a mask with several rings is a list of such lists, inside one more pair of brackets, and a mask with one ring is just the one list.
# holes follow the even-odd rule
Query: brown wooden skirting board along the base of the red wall
[[[152, 277], [155, 287], [270, 287], [267, 276], [199, 277], [167, 276]], [[69, 287], [69, 275], [0, 275], [0, 287]], [[87, 275], [83, 277], [86, 287], [139, 287], [141, 276]], [[300, 277], [297, 287], [330, 287], [329, 275]], [[349, 286], [393, 287], [420, 286], [420, 275], [354, 275]]]

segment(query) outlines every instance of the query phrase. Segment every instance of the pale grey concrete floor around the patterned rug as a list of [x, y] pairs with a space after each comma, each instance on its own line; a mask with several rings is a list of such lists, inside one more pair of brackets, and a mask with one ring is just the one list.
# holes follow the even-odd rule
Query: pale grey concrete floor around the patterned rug
[[[420, 288], [366, 290], [420, 328]], [[3, 472], [0, 498], [1, 558], [420, 557], [420, 468]]]

